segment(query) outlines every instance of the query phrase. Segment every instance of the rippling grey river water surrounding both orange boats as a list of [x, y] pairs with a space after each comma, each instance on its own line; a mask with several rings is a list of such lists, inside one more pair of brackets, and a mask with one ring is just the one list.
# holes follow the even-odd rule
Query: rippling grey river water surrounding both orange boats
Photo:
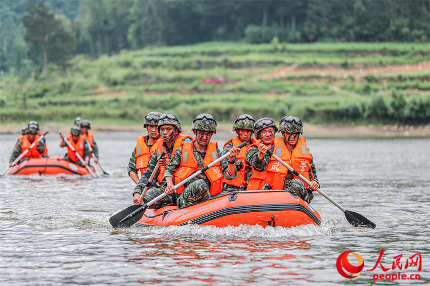
[[[114, 230], [109, 217], [132, 204], [126, 166], [136, 135], [96, 134], [108, 178], [0, 178], [0, 284], [430, 283], [430, 138], [307, 139], [321, 189], [372, 220], [375, 229], [352, 227], [315, 194], [320, 226]], [[16, 138], [0, 135], [1, 170]], [[214, 139], [222, 145], [227, 137]], [[58, 135], [48, 134], [47, 141], [51, 156], [64, 155]], [[352, 279], [336, 269], [348, 250], [364, 260]], [[421, 255], [420, 271], [415, 254]], [[352, 254], [348, 261], [358, 264]], [[373, 282], [380, 274], [390, 280]]]

